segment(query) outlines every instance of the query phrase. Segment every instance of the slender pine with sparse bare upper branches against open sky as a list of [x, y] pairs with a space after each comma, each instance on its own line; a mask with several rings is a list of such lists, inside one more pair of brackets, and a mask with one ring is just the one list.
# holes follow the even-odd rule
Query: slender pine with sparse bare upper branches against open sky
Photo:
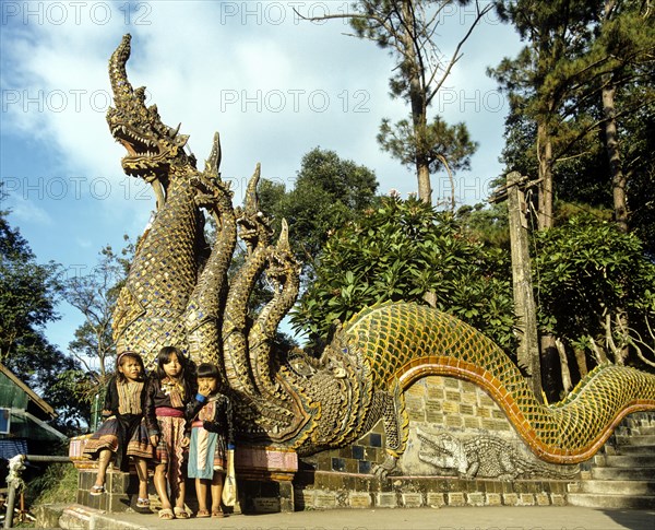
[[[434, 34], [446, 8], [455, 3], [460, 8], [475, 5], [476, 14], [449, 58], [434, 43]], [[378, 140], [403, 164], [415, 167], [418, 197], [431, 203], [430, 173], [443, 166], [450, 175], [452, 168], [465, 167], [476, 144], [464, 123], [451, 127], [441, 117], [429, 122], [428, 109], [462, 58], [464, 44], [492, 4], [480, 9], [477, 0], [359, 0], [353, 9], [352, 13], [309, 20], [347, 19], [357, 37], [390, 51], [396, 62], [390, 80], [391, 95], [407, 102], [410, 113], [409, 119], [394, 126], [384, 119]]]

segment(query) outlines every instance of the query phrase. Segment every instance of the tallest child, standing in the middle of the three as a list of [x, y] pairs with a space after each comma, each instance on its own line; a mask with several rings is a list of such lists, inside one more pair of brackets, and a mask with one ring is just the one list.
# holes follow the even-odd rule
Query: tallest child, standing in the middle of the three
[[[175, 346], [164, 346], [157, 355], [157, 368], [147, 389], [145, 414], [155, 446], [155, 488], [162, 500], [162, 519], [188, 519], [184, 509], [182, 460], [189, 438], [184, 435], [184, 410], [192, 396], [187, 358]], [[175, 500], [168, 497], [167, 485]]]

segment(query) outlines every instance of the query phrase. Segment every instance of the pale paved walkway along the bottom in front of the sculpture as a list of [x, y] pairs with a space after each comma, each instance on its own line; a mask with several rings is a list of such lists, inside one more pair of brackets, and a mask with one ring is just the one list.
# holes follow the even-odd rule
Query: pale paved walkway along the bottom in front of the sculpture
[[655, 510], [574, 506], [333, 509], [162, 520], [156, 515], [95, 516], [107, 530], [654, 530]]

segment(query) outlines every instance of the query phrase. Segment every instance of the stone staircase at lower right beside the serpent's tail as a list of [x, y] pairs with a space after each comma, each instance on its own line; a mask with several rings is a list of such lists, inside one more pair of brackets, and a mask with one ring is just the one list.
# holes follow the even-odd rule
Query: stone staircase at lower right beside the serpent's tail
[[568, 503], [591, 508], [655, 508], [655, 413], [630, 414], [569, 484]]

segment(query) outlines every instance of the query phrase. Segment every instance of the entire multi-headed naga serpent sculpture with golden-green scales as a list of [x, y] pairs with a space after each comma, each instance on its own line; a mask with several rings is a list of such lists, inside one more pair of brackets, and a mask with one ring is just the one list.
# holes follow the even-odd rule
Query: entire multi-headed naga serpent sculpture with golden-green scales
[[[146, 364], [164, 345], [195, 362], [213, 362], [236, 407], [237, 431], [248, 440], [287, 447], [300, 456], [342, 447], [380, 420], [386, 435], [383, 476], [405, 450], [404, 390], [418, 378], [445, 375], [483, 387], [543, 460], [588, 459], [631, 412], [655, 409], [655, 376], [603, 365], [560, 403], [539, 403], [512, 361], [487, 337], [458, 319], [415, 304], [368, 307], [343, 326], [320, 358], [273, 348], [277, 325], [299, 291], [299, 267], [286, 224], [271, 244], [269, 220], [258, 210], [259, 165], [245, 207], [233, 208], [221, 179], [218, 136], [203, 170], [184, 153], [188, 137], [164, 125], [145, 89], [134, 90], [126, 63], [130, 35], [109, 61], [115, 106], [109, 129], [128, 151], [128, 175], [150, 182], [157, 210], [139, 242], [114, 314], [118, 350], [135, 350]], [[216, 238], [204, 236], [204, 214]], [[237, 237], [247, 258], [228, 278]], [[265, 274], [272, 299], [254, 318], [248, 298]]]

